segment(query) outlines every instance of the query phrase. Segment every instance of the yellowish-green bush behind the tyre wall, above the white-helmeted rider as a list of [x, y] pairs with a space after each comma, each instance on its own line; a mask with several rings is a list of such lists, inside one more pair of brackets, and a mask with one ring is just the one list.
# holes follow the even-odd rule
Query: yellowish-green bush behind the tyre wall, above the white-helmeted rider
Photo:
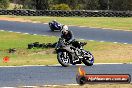
[[71, 10], [71, 8], [67, 4], [56, 4], [53, 5], [51, 10]]

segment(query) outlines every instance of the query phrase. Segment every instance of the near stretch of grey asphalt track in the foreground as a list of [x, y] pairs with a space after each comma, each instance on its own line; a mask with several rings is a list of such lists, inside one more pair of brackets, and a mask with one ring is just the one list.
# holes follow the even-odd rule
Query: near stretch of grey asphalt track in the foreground
[[[87, 74], [130, 74], [132, 64], [83, 66]], [[0, 67], [0, 87], [76, 84], [78, 66]]]

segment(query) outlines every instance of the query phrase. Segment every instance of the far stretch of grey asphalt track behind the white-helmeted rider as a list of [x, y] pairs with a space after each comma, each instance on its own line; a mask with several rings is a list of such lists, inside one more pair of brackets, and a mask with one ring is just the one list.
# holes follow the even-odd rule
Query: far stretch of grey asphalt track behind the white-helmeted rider
[[[60, 36], [60, 32], [51, 32], [48, 24], [0, 21], [0, 29], [13, 32]], [[120, 30], [105, 30], [98, 28], [70, 26], [74, 37], [78, 39], [110, 41], [132, 44], [132, 32]]]

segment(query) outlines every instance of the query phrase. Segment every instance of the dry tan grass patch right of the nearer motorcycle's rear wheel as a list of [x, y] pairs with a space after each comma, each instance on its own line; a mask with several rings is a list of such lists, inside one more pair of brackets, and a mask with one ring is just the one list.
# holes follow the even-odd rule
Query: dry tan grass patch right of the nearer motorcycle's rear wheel
[[106, 49], [93, 51], [93, 55], [98, 62], [132, 62], [131, 45], [106, 46]]

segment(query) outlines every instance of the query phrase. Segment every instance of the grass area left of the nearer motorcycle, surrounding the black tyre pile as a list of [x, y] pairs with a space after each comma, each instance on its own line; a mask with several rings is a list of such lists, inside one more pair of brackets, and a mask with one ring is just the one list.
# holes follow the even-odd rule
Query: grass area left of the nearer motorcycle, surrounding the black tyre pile
[[[27, 45], [33, 42], [49, 43], [56, 42], [57, 38], [52, 36], [33, 36], [17, 33], [0, 32], [0, 65], [48, 65], [57, 63], [55, 54], [37, 54], [47, 49], [27, 49]], [[9, 48], [16, 48], [17, 52], [9, 54]], [[3, 57], [9, 56], [10, 62], [3, 63]]]

